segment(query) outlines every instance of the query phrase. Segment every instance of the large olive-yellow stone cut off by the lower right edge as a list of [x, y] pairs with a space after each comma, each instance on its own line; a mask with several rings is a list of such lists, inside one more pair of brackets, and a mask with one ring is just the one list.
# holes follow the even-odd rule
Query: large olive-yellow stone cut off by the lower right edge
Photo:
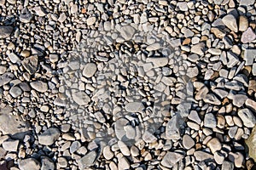
[[248, 156], [252, 157], [254, 161], [256, 161], [256, 126], [253, 127], [252, 133], [245, 140], [247, 144]]

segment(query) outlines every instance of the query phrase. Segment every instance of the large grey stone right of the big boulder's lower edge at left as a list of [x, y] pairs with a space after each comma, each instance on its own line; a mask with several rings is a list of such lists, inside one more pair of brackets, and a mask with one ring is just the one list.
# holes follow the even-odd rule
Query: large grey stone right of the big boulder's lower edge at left
[[51, 145], [60, 137], [61, 132], [55, 127], [49, 127], [44, 133], [38, 135], [39, 144]]

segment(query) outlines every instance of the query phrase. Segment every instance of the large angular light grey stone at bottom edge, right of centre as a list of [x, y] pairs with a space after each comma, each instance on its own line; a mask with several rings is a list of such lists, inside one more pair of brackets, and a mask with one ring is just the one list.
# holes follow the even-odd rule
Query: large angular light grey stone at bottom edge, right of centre
[[177, 152], [167, 151], [166, 156], [163, 157], [163, 160], [160, 162], [164, 167], [172, 168], [178, 161], [183, 159], [183, 155]]

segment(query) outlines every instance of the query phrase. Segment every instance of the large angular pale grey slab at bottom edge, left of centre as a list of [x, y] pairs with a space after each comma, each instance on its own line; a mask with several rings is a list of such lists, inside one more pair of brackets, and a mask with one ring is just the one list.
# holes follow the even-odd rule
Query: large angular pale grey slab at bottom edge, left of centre
[[96, 151], [91, 150], [88, 154], [80, 158], [78, 161], [79, 169], [85, 169], [87, 167], [93, 166], [96, 162], [96, 156]]

